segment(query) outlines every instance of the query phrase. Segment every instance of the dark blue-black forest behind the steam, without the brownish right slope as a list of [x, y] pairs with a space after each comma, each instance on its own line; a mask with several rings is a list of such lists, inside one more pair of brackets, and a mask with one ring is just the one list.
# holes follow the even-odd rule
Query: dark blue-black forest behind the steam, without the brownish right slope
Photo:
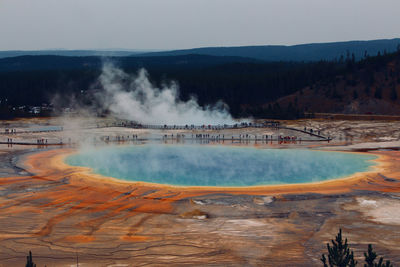
[[[180, 86], [183, 100], [196, 96], [201, 105], [223, 100], [234, 116], [294, 119], [303, 116], [296, 103], [265, 105], [315, 84], [334, 83], [338, 75], [363, 68], [371, 73], [383, 68], [398, 53], [367, 54], [361, 61], [347, 55], [335, 61], [261, 62], [238, 57], [186, 55], [176, 57], [24, 56], [0, 60], [0, 112], [36, 106], [59, 98], [90, 98], [102, 63], [112, 61], [128, 73], [146, 68], [156, 85], [171, 80]], [[372, 75], [373, 76], [373, 75]], [[368, 77], [366, 77], [367, 79]], [[86, 101], [89, 103], [90, 101]], [[20, 109], [21, 110], [21, 109]], [[1, 114], [0, 114], [1, 115]]]

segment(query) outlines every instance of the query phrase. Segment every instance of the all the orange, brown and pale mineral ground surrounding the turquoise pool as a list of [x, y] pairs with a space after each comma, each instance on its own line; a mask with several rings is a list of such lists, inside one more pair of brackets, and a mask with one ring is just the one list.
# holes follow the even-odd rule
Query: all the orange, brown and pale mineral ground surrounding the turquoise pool
[[[88, 267], [319, 266], [326, 243], [339, 228], [357, 258], [371, 243], [380, 255], [400, 263], [400, 122], [282, 122], [319, 130], [334, 139], [329, 143], [224, 142], [380, 156], [374, 171], [348, 179], [251, 188], [128, 183], [63, 163], [63, 157], [76, 151], [82, 140], [205, 133], [99, 127], [107, 123], [54, 118], [0, 125], [0, 141], [5, 142], [0, 145], [0, 266], [22, 266], [29, 250], [37, 266], [76, 266], [77, 259], [79, 266]], [[63, 131], [28, 131], [52, 125], [63, 125]], [[3, 133], [6, 128], [16, 133]], [[208, 133], [293, 135], [265, 128]], [[298, 136], [307, 139], [305, 133]], [[15, 143], [47, 139], [47, 145], [7, 144], [11, 138]], [[63, 145], [50, 145], [60, 142]]]

